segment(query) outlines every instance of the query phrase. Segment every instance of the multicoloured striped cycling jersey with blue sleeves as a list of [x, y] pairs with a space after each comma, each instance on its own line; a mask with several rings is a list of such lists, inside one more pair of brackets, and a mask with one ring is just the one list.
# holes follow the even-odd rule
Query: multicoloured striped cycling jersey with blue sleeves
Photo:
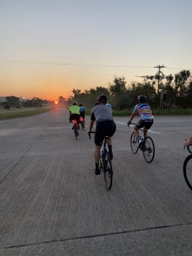
[[138, 112], [140, 118], [144, 121], [150, 121], [154, 119], [150, 106], [147, 103], [136, 104], [132, 113]]

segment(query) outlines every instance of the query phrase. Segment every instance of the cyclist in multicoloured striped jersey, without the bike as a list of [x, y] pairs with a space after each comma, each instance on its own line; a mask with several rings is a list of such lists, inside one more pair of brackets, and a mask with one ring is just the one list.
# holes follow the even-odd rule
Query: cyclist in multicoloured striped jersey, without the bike
[[127, 125], [131, 124], [131, 121], [136, 115], [136, 113], [139, 113], [140, 120], [134, 126], [134, 132], [137, 136], [137, 140], [139, 143], [138, 145], [140, 146], [141, 136], [139, 134], [139, 128], [143, 128], [144, 137], [147, 137], [147, 130], [154, 123], [154, 116], [152, 115], [152, 110], [150, 106], [146, 103], [147, 97], [145, 95], [140, 95], [138, 96], [138, 100], [139, 104], [136, 104], [136, 106], [134, 106], [132, 115], [130, 117], [130, 120], [127, 122]]

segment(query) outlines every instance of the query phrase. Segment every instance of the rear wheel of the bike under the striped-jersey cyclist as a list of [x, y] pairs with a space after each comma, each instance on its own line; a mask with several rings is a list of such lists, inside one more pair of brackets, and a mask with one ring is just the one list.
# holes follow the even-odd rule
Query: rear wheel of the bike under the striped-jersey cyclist
[[143, 156], [147, 163], [151, 163], [155, 156], [154, 141], [152, 140], [152, 138], [146, 137], [143, 143]]

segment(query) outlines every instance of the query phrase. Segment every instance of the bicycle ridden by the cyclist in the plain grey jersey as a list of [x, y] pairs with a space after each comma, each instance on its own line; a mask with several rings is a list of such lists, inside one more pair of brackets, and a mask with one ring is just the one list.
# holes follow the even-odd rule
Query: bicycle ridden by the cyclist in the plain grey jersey
[[[90, 140], [91, 133], [95, 132], [88, 132]], [[99, 170], [102, 170], [102, 172], [104, 173], [104, 181], [106, 184], [106, 188], [110, 190], [113, 182], [113, 168], [111, 163], [111, 157], [109, 156], [109, 152], [106, 149], [106, 143], [108, 138], [108, 136], [104, 137], [104, 141], [102, 142], [102, 148], [100, 148]]]

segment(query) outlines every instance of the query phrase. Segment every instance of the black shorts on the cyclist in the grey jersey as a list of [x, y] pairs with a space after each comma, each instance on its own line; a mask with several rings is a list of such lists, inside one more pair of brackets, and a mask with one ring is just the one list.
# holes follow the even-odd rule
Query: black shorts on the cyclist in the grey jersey
[[116, 131], [116, 124], [111, 121], [100, 121], [96, 124], [95, 145], [101, 146], [105, 136], [113, 136]]

